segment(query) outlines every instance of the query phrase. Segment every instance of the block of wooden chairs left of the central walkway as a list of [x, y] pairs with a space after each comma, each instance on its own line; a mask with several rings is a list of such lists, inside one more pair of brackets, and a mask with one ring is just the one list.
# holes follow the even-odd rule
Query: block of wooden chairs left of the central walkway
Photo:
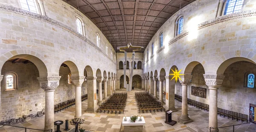
[[126, 100], [126, 92], [115, 92], [106, 101], [104, 101], [102, 105], [99, 105], [97, 112], [119, 112], [119, 114], [124, 113]]

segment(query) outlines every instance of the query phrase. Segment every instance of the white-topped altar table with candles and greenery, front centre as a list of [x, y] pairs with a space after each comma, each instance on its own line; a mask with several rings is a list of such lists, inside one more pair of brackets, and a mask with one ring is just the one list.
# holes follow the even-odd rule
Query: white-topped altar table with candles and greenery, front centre
[[122, 126], [124, 126], [124, 132], [142, 132], [143, 131], [143, 126], [146, 124], [145, 120], [143, 117], [138, 117], [138, 120], [135, 122], [131, 122], [130, 117], [126, 117], [127, 121], [125, 121], [125, 117], [123, 117], [122, 120]]

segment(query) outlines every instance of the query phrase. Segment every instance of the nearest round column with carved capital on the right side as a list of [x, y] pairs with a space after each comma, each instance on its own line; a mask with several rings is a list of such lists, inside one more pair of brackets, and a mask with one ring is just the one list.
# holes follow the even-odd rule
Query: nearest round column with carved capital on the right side
[[[218, 88], [222, 85], [224, 77], [225, 76], [222, 75], [204, 74], [205, 83], [209, 86], [209, 127], [218, 127], [217, 94]], [[212, 132], [218, 132], [218, 129], [214, 129]]]

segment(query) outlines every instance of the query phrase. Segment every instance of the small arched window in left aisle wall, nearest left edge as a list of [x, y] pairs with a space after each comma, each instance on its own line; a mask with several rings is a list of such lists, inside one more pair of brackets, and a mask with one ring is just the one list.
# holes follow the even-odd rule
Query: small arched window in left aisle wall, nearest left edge
[[6, 74], [6, 90], [17, 89], [18, 76], [15, 72]]

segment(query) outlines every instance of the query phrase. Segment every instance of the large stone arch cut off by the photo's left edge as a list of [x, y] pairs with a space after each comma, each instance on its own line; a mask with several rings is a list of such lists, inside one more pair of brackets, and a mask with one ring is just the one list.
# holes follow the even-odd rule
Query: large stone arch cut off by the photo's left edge
[[[3, 67], [3, 64], [7, 61], [7, 60], [12, 60], [12, 59], [17, 59], [17, 58], [21, 58], [21, 59], [26, 59], [31, 61], [32, 63], [35, 64], [35, 66], [38, 69], [39, 72], [39, 77], [47, 77], [48, 76], [48, 70], [47, 67], [45, 65], [45, 63], [43, 62], [44, 57], [40, 54], [36, 54], [33, 51], [30, 50], [12, 50], [10, 52], [7, 52], [5, 54], [3, 54], [0, 57], [0, 67]], [[0, 69], [1, 72], [2, 68]]]

